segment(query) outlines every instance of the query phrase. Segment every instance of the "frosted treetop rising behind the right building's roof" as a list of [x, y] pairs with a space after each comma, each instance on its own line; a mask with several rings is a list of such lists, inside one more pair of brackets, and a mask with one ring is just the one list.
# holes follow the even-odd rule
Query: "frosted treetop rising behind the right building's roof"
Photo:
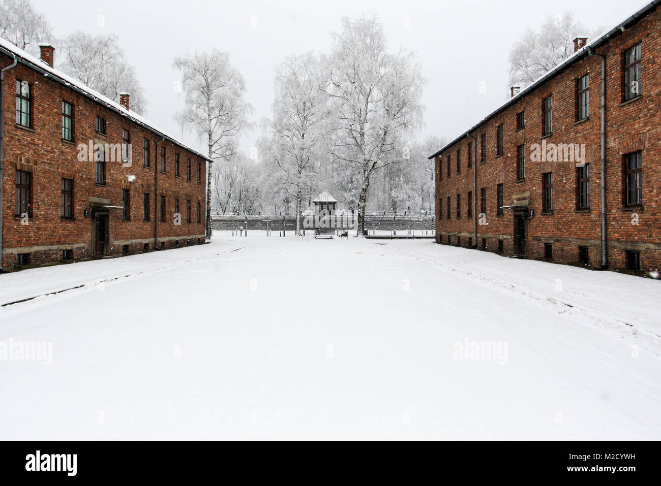
[[[591, 35], [600, 32], [596, 30]], [[574, 53], [574, 38], [589, 37], [588, 34], [570, 11], [549, 15], [539, 32], [528, 27], [510, 51], [510, 86], [531, 85]]]

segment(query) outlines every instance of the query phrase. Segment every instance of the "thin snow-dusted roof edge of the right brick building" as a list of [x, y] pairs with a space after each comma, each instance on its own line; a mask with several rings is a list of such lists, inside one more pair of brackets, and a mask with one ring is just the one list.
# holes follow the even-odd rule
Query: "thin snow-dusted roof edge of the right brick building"
[[543, 83], [545, 83], [549, 79], [555, 77], [555, 75], [559, 74], [566, 67], [578, 62], [583, 57], [586, 57], [586, 55], [590, 55], [590, 52], [592, 52], [592, 50], [594, 50], [595, 48], [597, 48], [598, 46], [600, 46], [601, 44], [603, 44], [604, 42], [609, 40], [611, 37], [616, 36], [617, 34], [620, 34], [624, 30], [629, 28], [629, 26], [631, 26], [631, 24], [634, 24], [635, 22], [637, 22], [639, 20], [639, 18], [643, 17], [649, 11], [652, 11], [652, 9], [656, 8], [656, 5], [658, 5], [659, 3], [661, 3], [661, 0], [652, 0], [650, 3], [646, 3], [644, 5], [644, 7], [637, 10], [633, 15], [629, 16], [628, 18], [626, 18], [625, 20], [623, 20], [622, 22], [620, 22], [619, 24], [617, 24], [615, 27], [611, 28], [610, 30], [607, 30], [607, 32], [605, 32], [605, 34], [602, 34], [601, 36], [598, 36], [595, 40], [593, 40], [589, 44], [586, 44], [586, 46], [580, 48], [580, 50], [574, 52], [572, 55], [570, 55], [570, 57], [565, 59], [563, 61], [563, 63], [557, 65], [556, 67], [551, 69], [551, 71], [549, 71], [548, 73], [545, 73], [545, 74], [541, 75], [531, 85], [529, 85], [527, 88], [525, 88], [523, 90], [520, 90], [518, 92], [518, 94], [515, 94], [514, 96], [512, 96], [512, 98], [510, 98], [509, 100], [504, 102], [504, 104], [502, 104], [498, 108], [496, 108], [496, 110], [494, 110], [493, 112], [488, 114], [488, 116], [486, 116], [483, 120], [479, 121], [479, 123], [476, 123], [475, 125], [473, 125], [469, 129], [467, 129], [465, 132], [463, 132], [461, 135], [459, 135], [459, 137], [453, 139], [451, 142], [446, 143], [446, 145], [444, 145], [443, 147], [438, 149], [438, 151], [434, 152], [432, 155], [428, 156], [427, 158], [434, 158], [435, 156], [439, 155], [440, 153], [442, 153], [442, 151], [447, 149], [447, 147], [451, 147], [451, 145], [454, 145], [455, 143], [457, 143], [461, 139], [467, 137], [469, 135], [469, 133], [471, 133], [471, 131], [474, 131], [475, 129], [477, 129], [478, 127], [483, 125], [483, 123], [486, 123], [486, 121], [491, 120], [491, 118], [493, 118], [494, 116], [496, 116], [497, 114], [499, 114], [500, 112], [502, 112], [503, 110], [508, 108], [508, 106], [518, 102], [518, 100], [520, 100], [520, 98], [523, 98], [526, 94], [529, 94], [530, 92], [535, 90], [540, 85], [543, 85]]

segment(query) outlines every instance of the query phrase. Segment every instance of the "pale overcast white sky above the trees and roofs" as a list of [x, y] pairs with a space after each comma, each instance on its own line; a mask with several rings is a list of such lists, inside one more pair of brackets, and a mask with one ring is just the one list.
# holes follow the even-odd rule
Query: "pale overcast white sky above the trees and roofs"
[[[254, 106], [253, 120], [258, 124], [270, 116], [278, 63], [293, 53], [328, 52], [330, 33], [340, 30], [342, 17], [376, 13], [385, 24], [391, 50], [401, 46], [416, 52], [428, 80], [421, 135], [453, 137], [506, 100], [508, 53], [526, 26], [537, 28], [548, 13], [559, 15], [570, 9], [588, 30], [611, 27], [644, 3], [33, 0], [56, 36], [74, 30], [118, 34], [145, 89], [147, 119], [198, 149], [202, 144], [191, 133], [182, 134], [173, 120], [182, 100], [175, 93], [178, 75], [172, 61], [186, 50], [218, 48], [231, 53], [231, 61], [245, 77], [247, 101]], [[104, 27], [98, 26], [100, 15]], [[481, 81], [486, 83], [485, 93], [479, 92]], [[246, 135], [242, 148], [249, 151], [258, 135], [258, 130]]]

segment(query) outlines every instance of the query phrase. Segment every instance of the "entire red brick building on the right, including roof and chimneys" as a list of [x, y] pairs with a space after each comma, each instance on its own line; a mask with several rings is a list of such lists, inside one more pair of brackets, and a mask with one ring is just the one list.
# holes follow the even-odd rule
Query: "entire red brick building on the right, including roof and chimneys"
[[658, 3], [577, 38], [572, 57], [430, 155], [438, 243], [661, 267]]

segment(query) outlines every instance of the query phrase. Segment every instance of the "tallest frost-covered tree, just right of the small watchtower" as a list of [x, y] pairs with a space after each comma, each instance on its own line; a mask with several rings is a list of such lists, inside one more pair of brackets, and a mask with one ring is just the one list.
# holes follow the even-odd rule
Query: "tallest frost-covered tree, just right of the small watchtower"
[[[334, 35], [331, 73], [332, 155], [354, 170], [358, 234], [362, 236], [373, 171], [397, 142], [422, 123], [424, 79], [412, 53], [387, 52], [383, 25], [375, 17], [342, 19]], [[403, 149], [403, 147], [399, 147]]]

